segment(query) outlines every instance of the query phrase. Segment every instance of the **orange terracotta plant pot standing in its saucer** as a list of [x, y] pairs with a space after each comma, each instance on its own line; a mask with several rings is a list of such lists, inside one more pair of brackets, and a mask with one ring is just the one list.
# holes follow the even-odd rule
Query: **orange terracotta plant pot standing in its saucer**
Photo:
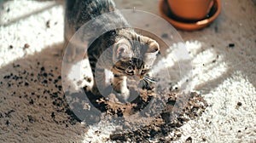
[[202, 20], [209, 13], [214, 0], [168, 0], [172, 13], [183, 20]]

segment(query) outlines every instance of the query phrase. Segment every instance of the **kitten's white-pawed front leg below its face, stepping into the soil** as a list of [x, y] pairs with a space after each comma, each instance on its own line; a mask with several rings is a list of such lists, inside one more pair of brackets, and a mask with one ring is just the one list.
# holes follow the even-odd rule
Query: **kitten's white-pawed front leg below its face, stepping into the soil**
[[119, 93], [117, 98], [125, 102], [130, 97], [130, 90], [127, 88], [126, 78], [125, 76], [119, 75], [113, 76], [113, 89]]

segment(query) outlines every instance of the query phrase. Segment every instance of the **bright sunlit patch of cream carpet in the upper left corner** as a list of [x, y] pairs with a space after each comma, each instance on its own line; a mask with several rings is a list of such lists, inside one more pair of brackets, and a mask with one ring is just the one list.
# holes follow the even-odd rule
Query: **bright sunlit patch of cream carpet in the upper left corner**
[[[9, 3], [9, 8], [15, 8], [18, 5], [20, 2]], [[8, 15], [12, 17], [12, 13]], [[5, 13], [2, 17], [4, 16]], [[0, 57], [4, 57], [0, 59], [0, 67], [26, 55], [40, 52], [55, 43], [62, 43], [63, 24], [63, 8], [57, 5], [38, 14], [16, 20], [8, 26], [0, 26]]]

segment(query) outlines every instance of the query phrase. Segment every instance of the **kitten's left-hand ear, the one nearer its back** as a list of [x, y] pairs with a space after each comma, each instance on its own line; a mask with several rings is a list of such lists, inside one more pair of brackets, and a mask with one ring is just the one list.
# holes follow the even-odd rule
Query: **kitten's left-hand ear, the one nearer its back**
[[126, 39], [121, 39], [113, 46], [113, 61], [131, 58], [131, 44]]

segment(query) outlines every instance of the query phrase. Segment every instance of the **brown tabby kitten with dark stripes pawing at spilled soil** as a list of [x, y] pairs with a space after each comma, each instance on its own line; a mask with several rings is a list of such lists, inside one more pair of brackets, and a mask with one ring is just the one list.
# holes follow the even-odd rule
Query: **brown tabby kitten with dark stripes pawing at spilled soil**
[[[115, 10], [113, 0], [67, 0], [66, 46], [68, 40], [80, 26], [96, 16], [113, 10]], [[129, 26], [119, 13], [115, 14], [111, 21], [117, 25]], [[96, 22], [95, 25], [101, 28], [108, 26], [104, 22]], [[136, 81], [148, 79], [145, 75], [153, 66], [159, 50], [159, 44], [154, 39], [137, 34], [132, 28], [118, 28], [105, 32], [102, 36], [97, 37], [87, 50], [94, 77], [91, 92], [101, 94], [99, 88], [104, 87], [104, 70], [109, 70], [113, 72], [113, 89], [119, 93], [119, 100], [127, 102], [130, 96], [126, 83], [127, 78]], [[75, 57], [76, 51], [67, 52], [72, 53], [71, 58]]]

